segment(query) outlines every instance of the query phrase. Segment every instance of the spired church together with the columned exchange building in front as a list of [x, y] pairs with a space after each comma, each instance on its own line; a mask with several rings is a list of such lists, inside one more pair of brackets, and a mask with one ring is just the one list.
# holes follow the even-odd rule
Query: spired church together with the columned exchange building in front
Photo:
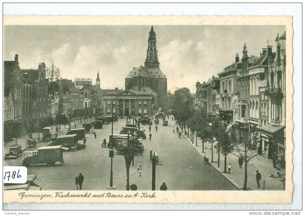
[[103, 94], [104, 114], [150, 115], [166, 105], [167, 78], [159, 68], [156, 43], [156, 33], [151, 27], [144, 67], [141, 65], [130, 71], [125, 78], [125, 90]]

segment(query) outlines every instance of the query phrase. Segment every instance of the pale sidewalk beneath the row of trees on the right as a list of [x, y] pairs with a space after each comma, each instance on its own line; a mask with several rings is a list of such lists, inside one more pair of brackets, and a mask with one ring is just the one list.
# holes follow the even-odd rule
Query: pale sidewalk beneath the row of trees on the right
[[[244, 176], [245, 176], [245, 167], [243, 164], [242, 168], [239, 168], [238, 163], [238, 157], [230, 154], [227, 156], [227, 172], [228, 172], [228, 165], [231, 163], [232, 169], [231, 174], [223, 173], [224, 171], [224, 156], [220, 154], [220, 167], [217, 167], [217, 159], [218, 159], [218, 153], [217, 149], [213, 149], [213, 161], [211, 156], [211, 144], [206, 142], [204, 144], [204, 153], [202, 153], [202, 142], [197, 138], [197, 146], [196, 146], [196, 136], [194, 134], [194, 144], [192, 144], [192, 141], [190, 138], [187, 138], [187, 135], [184, 135], [184, 132], [182, 133], [184, 138], [192, 145], [193, 148], [196, 149], [196, 151], [204, 157], [210, 158], [210, 165], [212, 165], [218, 172], [220, 172], [228, 181], [230, 181], [232, 184], [237, 186], [242, 190], [244, 185]], [[216, 144], [213, 143], [213, 146]], [[277, 176], [277, 170], [273, 168], [272, 160], [264, 158], [264, 156], [258, 155], [253, 158], [253, 165], [251, 166], [250, 163], [247, 166], [247, 188], [248, 190], [264, 190], [264, 181], [265, 181], [265, 190], [283, 190], [283, 184], [282, 182], [277, 179], [270, 177], [271, 174], [273, 176]], [[260, 172], [262, 175], [262, 179], [260, 180], [260, 188], [257, 187], [256, 183], [256, 170]]]

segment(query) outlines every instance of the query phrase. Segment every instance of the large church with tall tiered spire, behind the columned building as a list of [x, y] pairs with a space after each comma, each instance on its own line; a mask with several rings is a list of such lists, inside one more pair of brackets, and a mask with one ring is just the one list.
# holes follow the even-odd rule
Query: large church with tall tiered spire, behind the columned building
[[[156, 33], [151, 27], [144, 67], [134, 67], [125, 78], [125, 90], [147, 94], [151, 92], [154, 109], [167, 104], [167, 78], [159, 68]], [[157, 96], [157, 97], [155, 97]]]

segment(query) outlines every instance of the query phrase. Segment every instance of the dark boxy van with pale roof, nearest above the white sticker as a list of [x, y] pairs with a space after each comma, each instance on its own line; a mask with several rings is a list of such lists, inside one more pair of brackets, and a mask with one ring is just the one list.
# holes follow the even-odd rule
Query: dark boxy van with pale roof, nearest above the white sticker
[[63, 149], [61, 145], [41, 146], [37, 150], [23, 152], [24, 159], [22, 165], [25, 167], [31, 164], [43, 164], [48, 166], [54, 165], [56, 162], [63, 164]]

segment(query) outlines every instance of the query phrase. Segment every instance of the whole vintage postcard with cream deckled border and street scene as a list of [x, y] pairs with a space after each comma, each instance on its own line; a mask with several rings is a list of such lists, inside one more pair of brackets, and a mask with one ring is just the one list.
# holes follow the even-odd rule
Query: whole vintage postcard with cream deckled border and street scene
[[3, 32], [3, 202], [292, 202], [291, 16]]

